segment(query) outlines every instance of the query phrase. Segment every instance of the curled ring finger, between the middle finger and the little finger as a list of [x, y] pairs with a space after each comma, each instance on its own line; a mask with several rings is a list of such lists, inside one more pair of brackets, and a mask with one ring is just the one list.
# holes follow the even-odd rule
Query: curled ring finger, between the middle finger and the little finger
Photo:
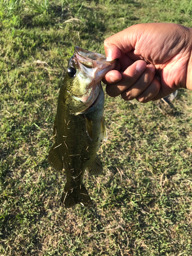
[[121, 93], [124, 100], [132, 100], [139, 96], [153, 81], [155, 76], [155, 66], [148, 64], [145, 71], [129, 89]]

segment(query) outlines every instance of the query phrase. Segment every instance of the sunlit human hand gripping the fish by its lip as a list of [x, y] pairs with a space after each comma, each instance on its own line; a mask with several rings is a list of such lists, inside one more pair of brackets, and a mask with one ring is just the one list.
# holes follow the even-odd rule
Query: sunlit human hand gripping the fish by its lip
[[119, 58], [103, 78], [106, 92], [148, 102], [178, 88], [192, 90], [192, 29], [177, 24], [138, 24], [104, 41], [106, 57]]

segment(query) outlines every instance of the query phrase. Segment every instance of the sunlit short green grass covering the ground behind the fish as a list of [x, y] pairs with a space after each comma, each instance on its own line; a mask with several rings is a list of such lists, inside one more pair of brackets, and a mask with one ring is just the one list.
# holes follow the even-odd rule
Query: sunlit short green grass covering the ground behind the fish
[[137, 23], [192, 27], [191, 6], [0, 1], [0, 255], [192, 255], [191, 92], [174, 108], [106, 95], [104, 173], [84, 179], [93, 208], [61, 208], [66, 178], [47, 162], [74, 46], [104, 53], [106, 37]]

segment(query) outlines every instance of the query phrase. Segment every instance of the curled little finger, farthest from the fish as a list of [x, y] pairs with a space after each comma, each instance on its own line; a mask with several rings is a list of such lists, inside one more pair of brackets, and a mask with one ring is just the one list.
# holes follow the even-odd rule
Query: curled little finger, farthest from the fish
[[136, 100], [142, 103], [146, 103], [152, 100], [158, 93], [161, 88], [161, 84], [157, 78], [154, 78], [151, 84], [136, 97]]

